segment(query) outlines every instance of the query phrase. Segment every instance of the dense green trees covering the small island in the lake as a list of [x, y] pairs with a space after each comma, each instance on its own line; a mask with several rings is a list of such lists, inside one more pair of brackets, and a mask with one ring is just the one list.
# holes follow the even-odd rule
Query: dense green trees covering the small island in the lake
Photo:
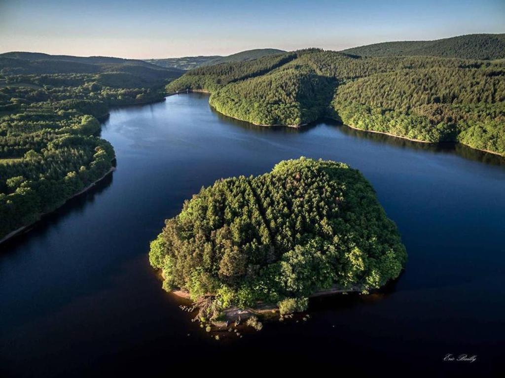
[[379, 288], [406, 259], [361, 173], [304, 157], [202, 188], [149, 252], [168, 291], [183, 288], [222, 308], [283, 301], [295, 310], [317, 291]]

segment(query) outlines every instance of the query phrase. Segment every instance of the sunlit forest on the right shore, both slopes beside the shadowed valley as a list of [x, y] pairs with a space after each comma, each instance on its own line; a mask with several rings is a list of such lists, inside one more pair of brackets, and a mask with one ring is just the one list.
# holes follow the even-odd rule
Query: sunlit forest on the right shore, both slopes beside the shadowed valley
[[[491, 54], [496, 43], [478, 46], [475, 53], [484, 48]], [[505, 154], [504, 78], [503, 60], [306, 49], [200, 67], [167, 91], [211, 92], [217, 111], [258, 125], [299, 126], [330, 117], [362, 130]]]

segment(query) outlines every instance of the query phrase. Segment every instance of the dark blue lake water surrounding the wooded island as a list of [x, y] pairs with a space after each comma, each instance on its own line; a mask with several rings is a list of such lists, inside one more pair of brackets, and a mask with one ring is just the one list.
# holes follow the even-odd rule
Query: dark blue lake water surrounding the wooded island
[[[0, 245], [1, 377], [159, 376], [176, 367], [224, 373], [227, 366], [239, 374], [271, 361], [333, 365], [335, 374], [344, 367], [503, 371], [503, 159], [331, 123], [255, 127], [214, 113], [200, 94], [115, 110], [102, 136], [116, 149], [117, 171]], [[148, 265], [149, 240], [201, 186], [300, 155], [362, 171], [398, 225], [406, 271], [377, 294], [312, 301], [308, 322], [212, 340], [162, 291]], [[477, 360], [444, 362], [448, 353]]]

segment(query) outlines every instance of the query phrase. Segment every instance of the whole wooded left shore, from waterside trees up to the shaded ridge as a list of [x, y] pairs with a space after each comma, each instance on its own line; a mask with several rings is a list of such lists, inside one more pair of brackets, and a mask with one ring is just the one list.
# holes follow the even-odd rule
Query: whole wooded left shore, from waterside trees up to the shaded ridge
[[0, 239], [103, 177], [111, 106], [162, 100], [180, 75], [141, 61], [0, 55]]

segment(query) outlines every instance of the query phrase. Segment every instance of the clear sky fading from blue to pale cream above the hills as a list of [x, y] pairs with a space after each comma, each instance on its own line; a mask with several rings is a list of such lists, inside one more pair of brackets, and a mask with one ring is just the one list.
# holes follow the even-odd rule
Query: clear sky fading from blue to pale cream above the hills
[[505, 0], [0, 0], [0, 52], [171, 58], [505, 33]]

